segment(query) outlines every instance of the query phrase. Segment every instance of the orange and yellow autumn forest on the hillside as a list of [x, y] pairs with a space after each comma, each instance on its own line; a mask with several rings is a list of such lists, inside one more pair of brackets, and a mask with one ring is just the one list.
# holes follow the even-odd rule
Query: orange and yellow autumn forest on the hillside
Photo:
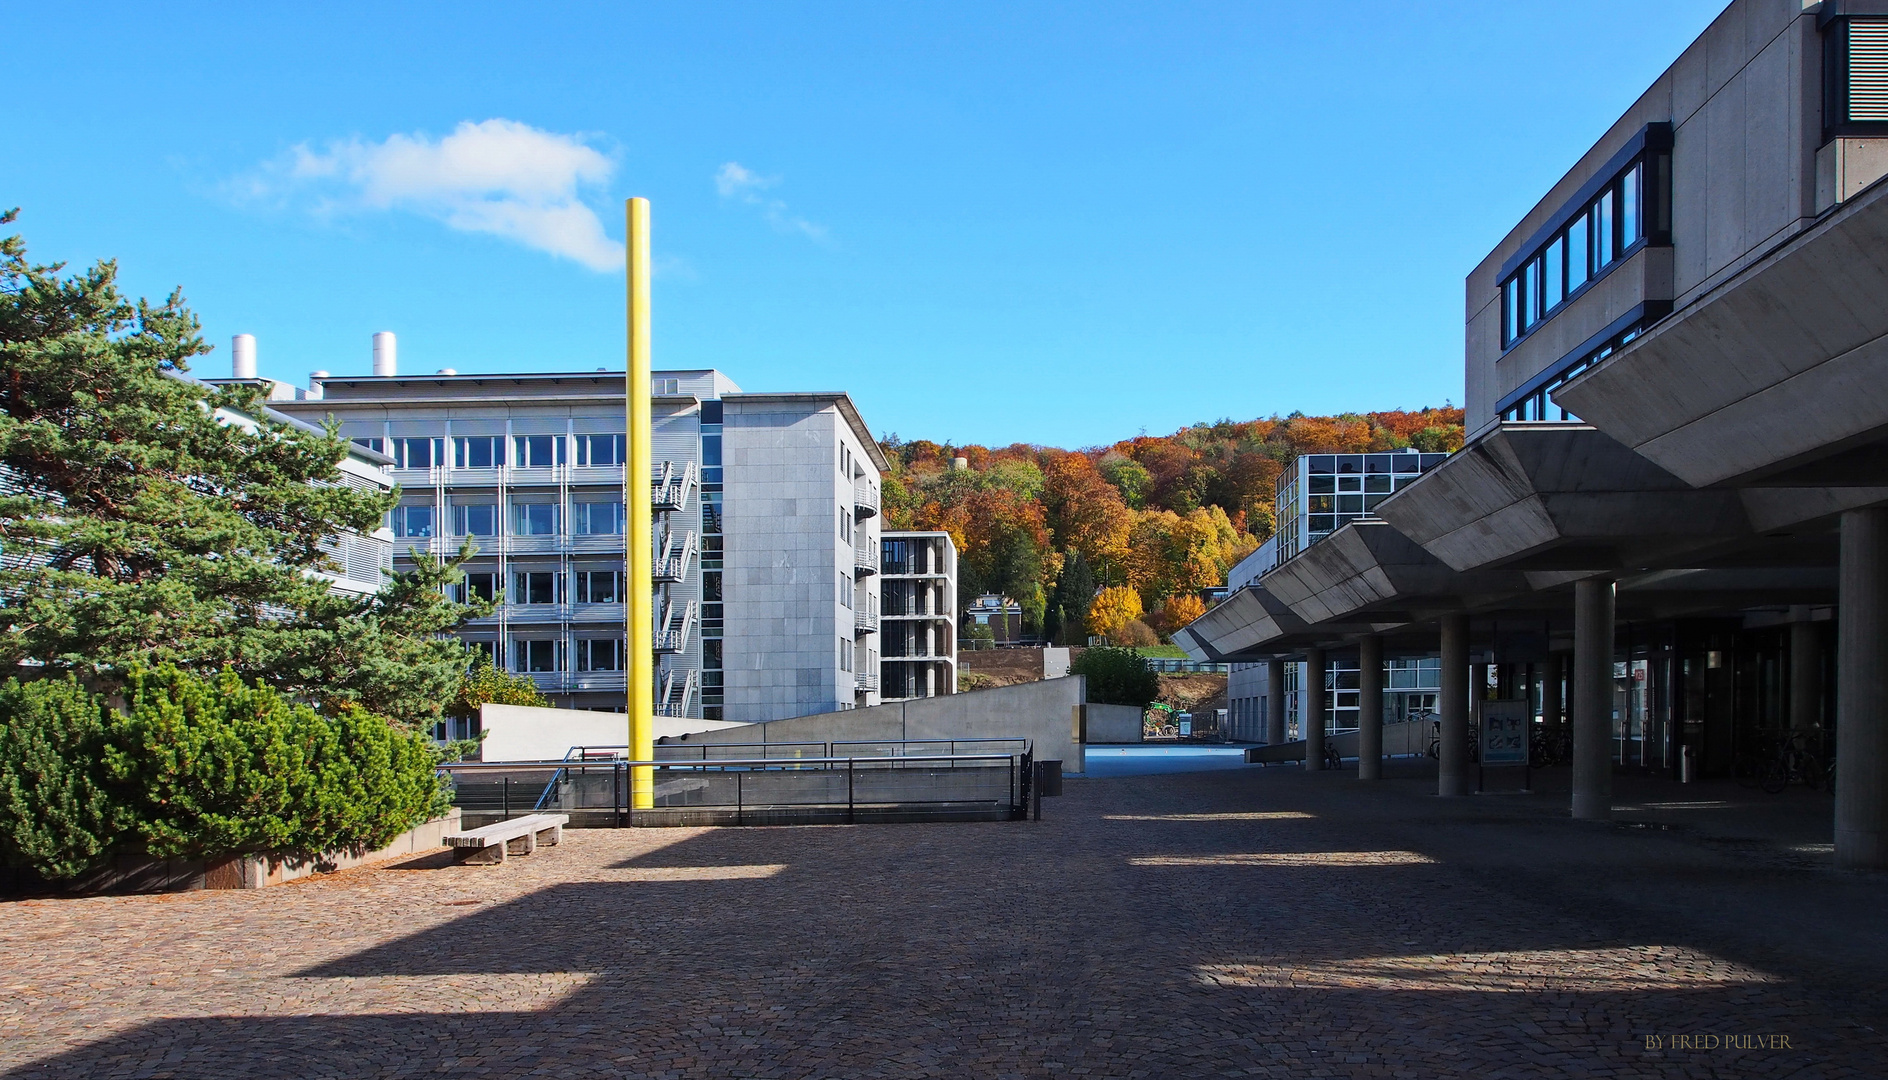
[[950, 532], [959, 595], [1018, 600], [1033, 636], [1150, 646], [1201, 616], [1205, 591], [1271, 538], [1291, 459], [1456, 451], [1461, 434], [1450, 406], [1225, 419], [1087, 449], [887, 434], [885, 527]]

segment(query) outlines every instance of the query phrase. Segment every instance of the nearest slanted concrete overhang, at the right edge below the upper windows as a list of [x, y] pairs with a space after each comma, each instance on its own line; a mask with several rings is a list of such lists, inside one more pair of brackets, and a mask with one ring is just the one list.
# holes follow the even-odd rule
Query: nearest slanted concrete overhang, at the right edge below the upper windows
[[1695, 487], [1888, 485], [1888, 183], [1554, 391]]

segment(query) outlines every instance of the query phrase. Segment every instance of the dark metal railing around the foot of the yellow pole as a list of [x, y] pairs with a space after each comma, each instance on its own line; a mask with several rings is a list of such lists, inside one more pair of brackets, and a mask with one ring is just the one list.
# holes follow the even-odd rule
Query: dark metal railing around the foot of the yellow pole
[[723, 812], [734, 825], [793, 818], [850, 823], [859, 814], [1020, 818], [1029, 804], [1031, 753], [474, 761], [442, 765], [440, 772], [451, 776], [453, 802], [466, 814], [559, 810], [627, 825], [632, 768], [653, 770], [655, 810]]

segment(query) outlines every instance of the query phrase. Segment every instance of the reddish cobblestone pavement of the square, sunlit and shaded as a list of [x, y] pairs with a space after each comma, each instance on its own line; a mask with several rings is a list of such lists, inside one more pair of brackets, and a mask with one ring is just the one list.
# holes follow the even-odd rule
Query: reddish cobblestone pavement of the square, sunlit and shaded
[[6, 903], [0, 1076], [1888, 1074], [1880, 878], [1418, 789], [1070, 780], [1042, 823]]

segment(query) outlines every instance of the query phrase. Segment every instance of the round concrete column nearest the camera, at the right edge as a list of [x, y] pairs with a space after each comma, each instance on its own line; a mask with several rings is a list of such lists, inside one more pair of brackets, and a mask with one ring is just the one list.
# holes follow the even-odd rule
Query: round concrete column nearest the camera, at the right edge
[[1835, 865], [1888, 867], [1888, 508], [1843, 514]]

